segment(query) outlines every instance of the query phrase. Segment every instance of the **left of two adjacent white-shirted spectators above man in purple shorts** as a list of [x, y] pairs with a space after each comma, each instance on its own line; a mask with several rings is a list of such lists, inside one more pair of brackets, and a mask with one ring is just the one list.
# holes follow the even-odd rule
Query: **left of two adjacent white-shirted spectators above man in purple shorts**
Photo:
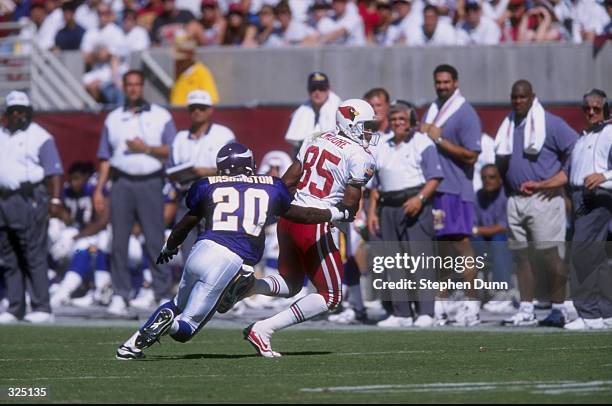
[[428, 4], [423, 9], [423, 25], [411, 27], [406, 33], [406, 45], [444, 46], [455, 45], [455, 29], [448, 23], [440, 21], [438, 8]]

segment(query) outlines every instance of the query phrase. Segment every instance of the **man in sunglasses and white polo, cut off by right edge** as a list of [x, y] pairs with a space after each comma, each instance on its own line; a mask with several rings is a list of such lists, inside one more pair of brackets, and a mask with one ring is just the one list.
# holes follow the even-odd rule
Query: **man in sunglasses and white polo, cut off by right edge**
[[587, 129], [569, 160], [574, 236], [571, 292], [578, 318], [567, 330], [612, 328], [612, 270], [606, 254], [612, 221], [612, 123], [606, 94], [599, 89], [583, 97]]

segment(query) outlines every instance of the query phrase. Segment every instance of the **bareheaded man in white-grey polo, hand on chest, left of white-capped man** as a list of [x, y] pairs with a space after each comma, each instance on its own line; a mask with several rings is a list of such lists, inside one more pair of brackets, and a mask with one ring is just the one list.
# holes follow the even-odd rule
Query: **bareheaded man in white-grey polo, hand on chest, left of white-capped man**
[[138, 220], [145, 237], [144, 254], [153, 275], [155, 299], [168, 297], [169, 269], [155, 264], [164, 243], [164, 162], [176, 128], [170, 113], [143, 99], [144, 75], [131, 70], [123, 75], [125, 106], [111, 111], [104, 121], [98, 158], [99, 182], [94, 192], [96, 211], [104, 209], [103, 188], [112, 179], [110, 193], [113, 243], [111, 277], [114, 296], [109, 313], [127, 314], [131, 277], [128, 242]]

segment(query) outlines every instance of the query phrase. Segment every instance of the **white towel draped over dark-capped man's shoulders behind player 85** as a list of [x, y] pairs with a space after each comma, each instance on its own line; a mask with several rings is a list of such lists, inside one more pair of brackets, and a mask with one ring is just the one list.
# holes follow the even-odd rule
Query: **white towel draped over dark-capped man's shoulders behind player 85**
[[310, 102], [302, 104], [291, 117], [285, 139], [287, 141], [303, 141], [316, 132], [331, 131], [336, 128], [336, 111], [340, 102], [340, 97], [330, 91], [327, 101], [319, 111], [318, 123], [315, 123], [315, 112]]

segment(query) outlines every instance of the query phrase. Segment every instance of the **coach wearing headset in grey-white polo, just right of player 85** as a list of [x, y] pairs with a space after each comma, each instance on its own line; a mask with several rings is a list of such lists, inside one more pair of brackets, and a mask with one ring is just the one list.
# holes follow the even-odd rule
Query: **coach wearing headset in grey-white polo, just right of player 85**
[[[368, 228], [371, 234], [380, 228], [385, 249], [392, 253], [432, 255], [435, 233], [431, 200], [444, 178], [440, 156], [433, 141], [416, 132], [418, 118], [412, 104], [404, 101], [392, 104], [389, 121], [393, 136], [375, 152], [380, 194], [370, 194]], [[436, 278], [433, 269], [419, 269], [418, 275], [431, 281]], [[409, 277], [397, 270], [387, 272], [386, 276], [390, 282]], [[393, 313], [380, 321], [379, 327], [433, 325], [433, 291], [419, 290], [417, 294], [392, 291], [390, 296]]]

